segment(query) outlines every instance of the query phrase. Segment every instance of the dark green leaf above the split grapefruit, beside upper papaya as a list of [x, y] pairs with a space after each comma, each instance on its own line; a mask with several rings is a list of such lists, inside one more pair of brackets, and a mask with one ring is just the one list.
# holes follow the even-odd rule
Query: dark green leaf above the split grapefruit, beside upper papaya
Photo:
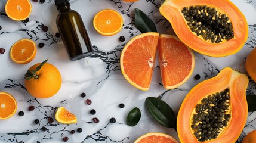
[[153, 21], [138, 8], [134, 9], [135, 12], [135, 26], [141, 33], [158, 32]]

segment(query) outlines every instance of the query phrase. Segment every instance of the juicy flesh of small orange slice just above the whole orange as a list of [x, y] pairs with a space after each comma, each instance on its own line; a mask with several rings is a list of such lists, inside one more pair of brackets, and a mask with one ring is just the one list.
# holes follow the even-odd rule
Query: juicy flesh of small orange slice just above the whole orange
[[34, 50], [33, 43], [24, 40], [14, 45], [11, 54], [16, 61], [26, 61], [28, 58], [32, 57]]

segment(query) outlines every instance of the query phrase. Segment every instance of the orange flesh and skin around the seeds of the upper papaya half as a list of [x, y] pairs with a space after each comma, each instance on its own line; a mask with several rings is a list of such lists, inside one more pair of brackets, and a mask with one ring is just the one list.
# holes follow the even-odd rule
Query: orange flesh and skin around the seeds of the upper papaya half
[[[232, 25], [234, 38], [220, 43], [206, 42], [192, 33], [187, 26], [181, 10], [192, 5], [207, 5], [215, 7], [229, 17]], [[226, 0], [165, 0], [159, 8], [160, 13], [171, 23], [178, 38], [203, 55], [210, 57], [225, 57], [242, 49], [248, 39], [248, 24], [242, 12], [230, 1]]]

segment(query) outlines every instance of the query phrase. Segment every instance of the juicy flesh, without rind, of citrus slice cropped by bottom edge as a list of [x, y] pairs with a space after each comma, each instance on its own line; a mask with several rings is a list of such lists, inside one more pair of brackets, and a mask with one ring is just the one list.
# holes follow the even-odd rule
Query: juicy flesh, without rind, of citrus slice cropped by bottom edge
[[138, 143], [175, 143], [175, 141], [172, 141], [170, 138], [166, 138], [165, 136], [156, 136], [156, 135], [150, 135], [146, 138], [141, 139]]

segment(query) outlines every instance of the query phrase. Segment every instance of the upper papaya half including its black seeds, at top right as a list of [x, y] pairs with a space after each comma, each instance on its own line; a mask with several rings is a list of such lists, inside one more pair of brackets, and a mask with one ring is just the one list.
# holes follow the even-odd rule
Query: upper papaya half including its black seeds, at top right
[[248, 38], [246, 18], [231, 1], [164, 0], [159, 11], [183, 43], [204, 55], [235, 54]]

